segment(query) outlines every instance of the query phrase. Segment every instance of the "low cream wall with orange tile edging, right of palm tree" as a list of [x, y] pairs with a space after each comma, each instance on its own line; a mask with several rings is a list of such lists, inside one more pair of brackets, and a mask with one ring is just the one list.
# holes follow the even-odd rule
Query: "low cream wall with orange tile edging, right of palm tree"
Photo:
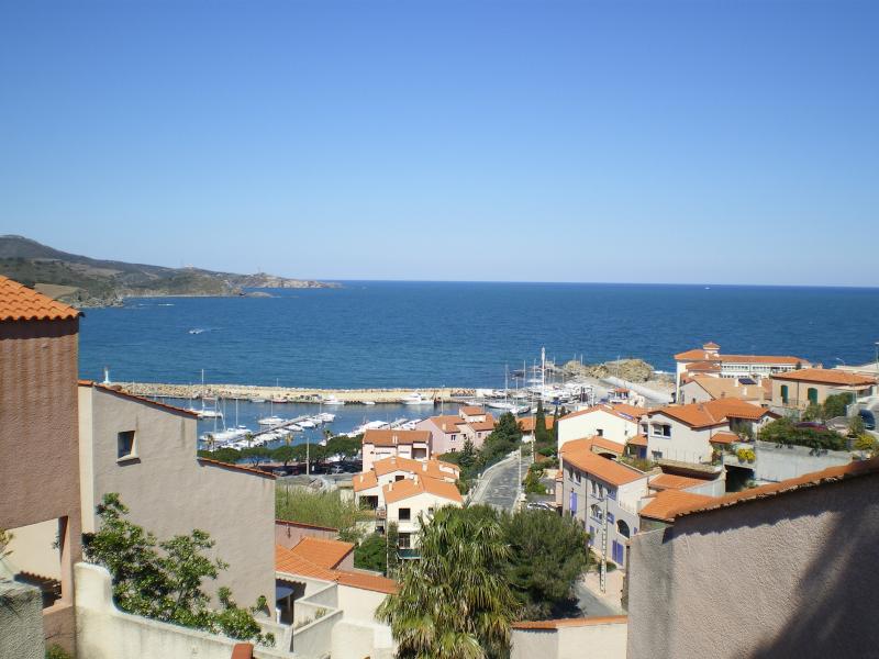
[[[588, 619], [588, 618], [587, 618]], [[510, 659], [625, 659], [626, 622], [513, 629]]]

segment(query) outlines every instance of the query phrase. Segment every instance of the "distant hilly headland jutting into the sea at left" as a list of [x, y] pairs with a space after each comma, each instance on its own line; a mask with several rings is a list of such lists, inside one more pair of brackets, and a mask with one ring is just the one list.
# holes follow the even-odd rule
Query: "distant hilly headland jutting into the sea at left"
[[247, 288], [338, 287], [265, 272], [235, 275], [101, 260], [11, 235], [0, 236], [0, 275], [76, 306], [121, 304], [133, 297], [243, 295]]

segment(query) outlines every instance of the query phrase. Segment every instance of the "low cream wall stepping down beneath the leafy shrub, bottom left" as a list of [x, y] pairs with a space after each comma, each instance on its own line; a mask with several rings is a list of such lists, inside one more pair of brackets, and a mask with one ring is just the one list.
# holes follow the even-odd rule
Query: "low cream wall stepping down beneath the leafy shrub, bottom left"
[[[77, 656], [88, 659], [198, 657], [229, 659], [236, 640], [122, 613], [113, 605], [110, 573], [76, 566]], [[289, 658], [289, 652], [257, 646], [257, 659]]]

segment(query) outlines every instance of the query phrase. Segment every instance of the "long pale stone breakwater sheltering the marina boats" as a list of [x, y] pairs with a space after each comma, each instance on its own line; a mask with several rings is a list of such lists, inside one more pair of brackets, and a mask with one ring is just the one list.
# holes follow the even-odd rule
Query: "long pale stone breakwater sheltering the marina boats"
[[147, 398], [265, 400], [275, 403], [316, 403], [335, 399], [345, 403], [396, 403], [414, 391], [436, 402], [453, 402], [472, 396], [467, 388], [437, 387], [421, 389], [315, 389], [299, 387], [260, 387], [256, 384], [168, 384], [162, 382], [113, 382], [125, 391]]

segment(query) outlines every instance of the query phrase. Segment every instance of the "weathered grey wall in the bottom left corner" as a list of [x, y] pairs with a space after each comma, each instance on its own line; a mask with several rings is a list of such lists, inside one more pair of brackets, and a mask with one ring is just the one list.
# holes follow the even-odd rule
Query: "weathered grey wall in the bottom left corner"
[[44, 659], [40, 590], [14, 581], [0, 581], [0, 657]]

